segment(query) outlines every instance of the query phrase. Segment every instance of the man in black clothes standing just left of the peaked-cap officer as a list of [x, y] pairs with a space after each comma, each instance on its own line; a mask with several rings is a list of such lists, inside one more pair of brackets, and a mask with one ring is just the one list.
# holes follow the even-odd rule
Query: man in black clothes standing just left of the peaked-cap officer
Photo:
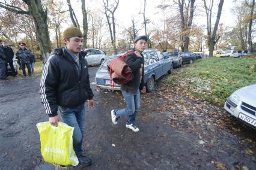
[[5, 63], [5, 73], [6, 73], [6, 76], [8, 77], [8, 69], [7, 69], [7, 67], [8, 67], [8, 63], [9, 63], [13, 76], [17, 77], [17, 72], [15, 71], [14, 66], [13, 66], [14, 52], [13, 52], [12, 48], [7, 46], [7, 41], [2, 41], [2, 50], [4, 51], [4, 54], [7, 57], [7, 62]]

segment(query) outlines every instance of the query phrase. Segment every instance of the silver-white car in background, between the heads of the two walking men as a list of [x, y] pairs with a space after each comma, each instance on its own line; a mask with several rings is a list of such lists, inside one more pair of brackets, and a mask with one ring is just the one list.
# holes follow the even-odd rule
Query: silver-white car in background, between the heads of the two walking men
[[105, 59], [106, 54], [103, 50], [97, 48], [85, 48], [84, 53], [86, 54], [85, 59], [88, 65], [100, 65]]

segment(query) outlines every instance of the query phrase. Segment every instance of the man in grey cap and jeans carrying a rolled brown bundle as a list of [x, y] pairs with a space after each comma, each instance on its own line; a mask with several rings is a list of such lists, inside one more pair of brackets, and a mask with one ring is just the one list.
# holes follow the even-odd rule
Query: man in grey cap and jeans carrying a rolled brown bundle
[[147, 42], [146, 36], [136, 37], [134, 40], [135, 53], [130, 53], [125, 60], [127, 65], [132, 69], [134, 78], [127, 84], [121, 85], [121, 91], [126, 101], [126, 108], [111, 111], [111, 120], [114, 125], [117, 124], [119, 117], [128, 116], [126, 128], [132, 129], [133, 132], [139, 132], [139, 128], [134, 125], [136, 114], [139, 110], [139, 97], [141, 90], [145, 93], [144, 84], [144, 57], [142, 52], [145, 50]]

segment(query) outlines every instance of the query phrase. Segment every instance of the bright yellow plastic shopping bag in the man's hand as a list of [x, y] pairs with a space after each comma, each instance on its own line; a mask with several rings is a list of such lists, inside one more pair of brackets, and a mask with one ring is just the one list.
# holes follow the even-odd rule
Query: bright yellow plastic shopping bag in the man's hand
[[37, 129], [45, 162], [64, 166], [78, 165], [78, 157], [73, 150], [73, 127], [62, 122], [56, 127], [49, 122], [41, 122], [37, 123]]

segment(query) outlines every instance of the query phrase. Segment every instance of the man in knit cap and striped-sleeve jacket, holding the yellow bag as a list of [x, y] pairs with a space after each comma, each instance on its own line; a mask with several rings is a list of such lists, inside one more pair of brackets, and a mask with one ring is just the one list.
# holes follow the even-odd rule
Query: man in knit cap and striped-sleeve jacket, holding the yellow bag
[[[85, 123], [85, 101], [94, 107], [90, 87], [88, 64], [80, 51], [83, 45], [82, 32], [75, 27], [63, 32], [66, 47], [56, 48], [47, 59], [41, 77], [41, 98], [51, 125], [63, 120], [74, 127], [73, 147], [79, 163], [91, 165], [91, 159], [82, 154]], [[60, 117], [60, 116], [61, 117]]]

